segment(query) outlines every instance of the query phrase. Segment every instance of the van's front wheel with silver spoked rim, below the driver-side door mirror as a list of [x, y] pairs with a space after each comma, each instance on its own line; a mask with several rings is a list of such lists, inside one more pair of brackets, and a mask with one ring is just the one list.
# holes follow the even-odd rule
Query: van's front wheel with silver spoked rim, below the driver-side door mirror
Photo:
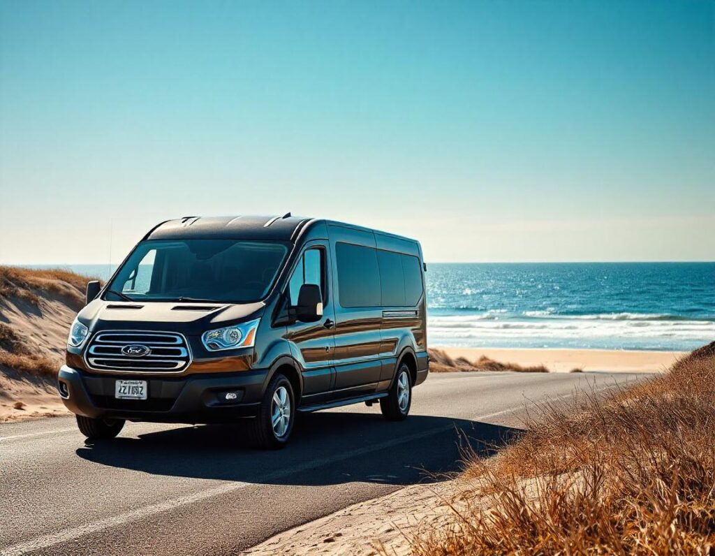
[[258, 414], [250, 421], [251, 443], [260, 449], [278, 450], [288, 443], [295, 423], [295, 395], [285, 375], [271, 379]]

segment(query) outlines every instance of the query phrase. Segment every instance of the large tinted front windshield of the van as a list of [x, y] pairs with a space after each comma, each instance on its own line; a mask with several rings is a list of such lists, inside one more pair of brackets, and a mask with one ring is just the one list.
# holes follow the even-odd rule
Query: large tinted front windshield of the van
[[283, 263], [282, 243], [147, 240], [117, 271], [105, 298], [252, 303], [267, 295]]

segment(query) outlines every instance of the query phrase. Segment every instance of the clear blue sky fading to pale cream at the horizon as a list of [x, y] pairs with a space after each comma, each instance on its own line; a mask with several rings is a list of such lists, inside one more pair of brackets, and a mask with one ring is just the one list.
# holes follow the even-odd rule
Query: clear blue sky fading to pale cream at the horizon
[[0, 0], [0, 263], [182, 215], [714, 260], [712, 1]]

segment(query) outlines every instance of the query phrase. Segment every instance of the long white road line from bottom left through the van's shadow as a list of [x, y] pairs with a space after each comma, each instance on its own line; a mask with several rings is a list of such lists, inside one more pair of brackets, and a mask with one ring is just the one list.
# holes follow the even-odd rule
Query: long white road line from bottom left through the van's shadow
[[[495, 413], [490, 413], [487, 415], [480, 415], [475, 417], [478, 419], [489, 419], [490, 417], [501, 415], [507, 411], [512, 411], [511, 409], [505, 409], [503, 411], [496, 411]], [[429, 429], [427, 431], [417, 432], [415, 434], [408, 434], [407, 436], [401, 436], [400, 438], [388, 440], [385, 442], [379, 442], [378, 444], [373, 444], [369, 447], [357, 448], [350, 450], [350, 452], [345, 452], [343, 454], [337, 454], [333, 457], [328, 457], [322, 459], [318, 462], [306, 462], [305, 464], [299, 465], [297, 467], [292, 467], [291, 469], [281, 469], [280, 471], [267, 474], [265, 481], [272, 481], [276, 479], [281, 479], [282, 477], [287, 477], [289, 475], [307, 471], [307, 469], [312, 469], [313, 467], [322, 467], [329, 464], [334, 464], [341, 462], [344, 459], [350, 459], [352, 457], [362, 456], [363, 454], [369, 454], [370, 452], [377, 452], [378, 450], [393, 447], [397, 444], [404, 444], [405, 442], [412, 442], [413, 440], [418, 440], [424, 438], [425, 436], [432, 436], [433, 434], [439, 434], [440, 432], [445, 432], [450, 429], [454, 429], [454, 424], [438, 426], [434, 429]], [[107, 517], [104, 520], [99, 520], [92, 523], [87, 523], [85, 525], [79, 525], [78, 527], [70, 527], [65, 530], [61, 530], [56, 533], [50, 533], [48, 535], [42, 535], [41, 537], [36, 537], [32, 540], [25, 542], [20, 542], [16, 545], [6, 547], [0, 552], [0, 556], [19, 556], [25, 554], [26, 552], [33, 552], [34, 550], [42, 550], [54, 545], [59, 545], [61, 542], [67, 542], [70, 540], [76, 540], [84, 535], [90, 535], [92, 533], [97, 533], [109, 529], [110, 527], [117, 527], [117, 525], [124, 525], [128, 522], [133, 522], [137, 520], [142, 520], [145, 517], [151, 517], [155, 514], [162, 512], [168, 512], [171, 509], [176, 509], [178, 507], [187, 506], [189, 504], [194, 504], [202, 500], [212, 498], [215, 496], [220, 496], [221, 494], [227, 494], [227, 492], [233, 492], [235, 490], [244, 489], [246, 487], [255, 486], [254, 483], [247, 482], [229, 482], [221, 484], [218, 487], [213, 487], [210, 489], [202, 490], [201, 492], [196, 492], [195, 494], [188, 494], [187, 496], [182, 496], [167, 500], [166, 502], [159, 502], [159, 504], [152, 504], [150, 506], [145, 506], [142, 508], [134, 509], [131, 512], [125, 512], [124, 514], [115, 515], [112, 517]]]

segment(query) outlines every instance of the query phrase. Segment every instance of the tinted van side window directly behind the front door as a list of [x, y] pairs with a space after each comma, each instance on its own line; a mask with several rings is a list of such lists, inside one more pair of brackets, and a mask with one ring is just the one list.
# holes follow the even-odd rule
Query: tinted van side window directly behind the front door
[[338, 242], [335, 255], [340, 305], [380, 306], [380, 272], [375, 249]]

